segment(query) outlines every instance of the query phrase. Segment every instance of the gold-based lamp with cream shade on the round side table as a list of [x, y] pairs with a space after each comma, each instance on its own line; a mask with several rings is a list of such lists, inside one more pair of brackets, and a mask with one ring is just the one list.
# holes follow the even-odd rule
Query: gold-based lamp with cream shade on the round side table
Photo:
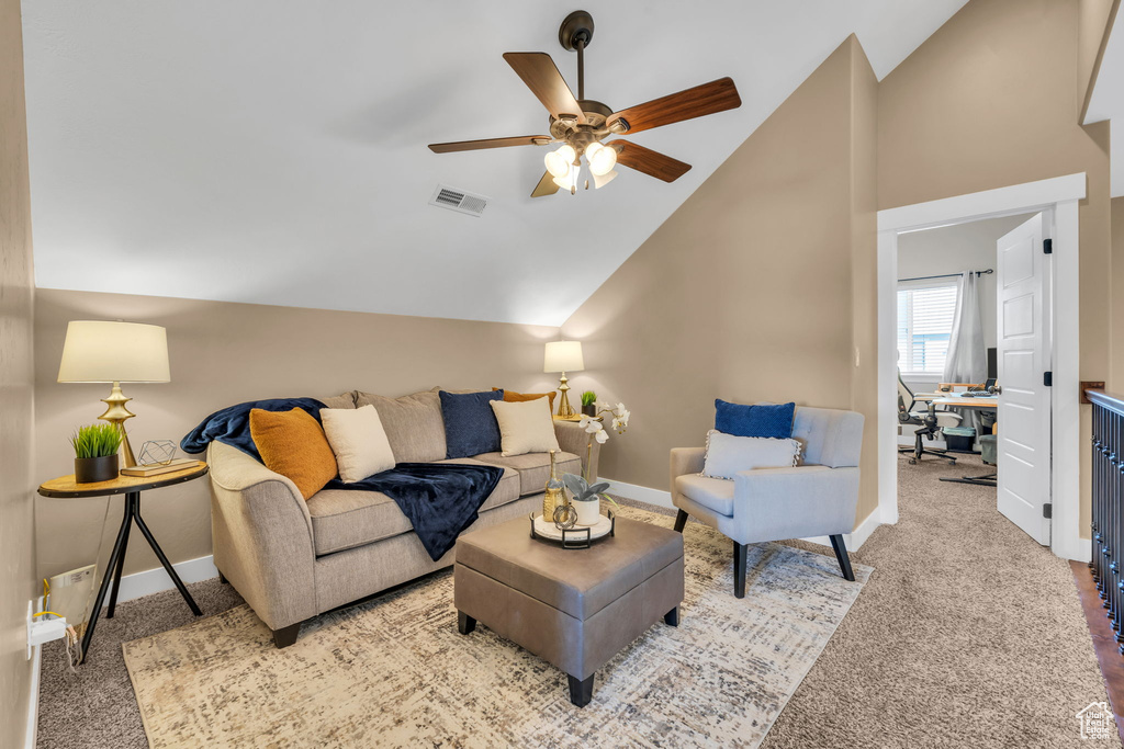
[[72, 320], [66, 325], [58, 382], [112, 383], [109, 398], [101, 399], [106, 412], [99, 419], [117, 424], [121, 432], [121, 460], [126, 468], [137, 464], [125, 432], [132, 419], [121, 393], [123, 382], [171, 382], [167, 365], [167, 331], [160, 326], [108, 320]]

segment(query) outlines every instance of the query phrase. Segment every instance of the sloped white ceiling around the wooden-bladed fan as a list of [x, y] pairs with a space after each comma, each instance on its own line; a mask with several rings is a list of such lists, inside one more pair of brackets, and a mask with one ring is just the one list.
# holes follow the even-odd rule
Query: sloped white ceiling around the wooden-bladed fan
[[[731, 75], [743, 104], [634, 136], [694, 165], [674, 184], [534, 200], [543, 148], [426, 144], [545, 133], [500, 55], [575, 88], [572, 1], [25, 1], [36, 281], [560, 325], [849, 34], [882, 77], [964, 1], [586, 3], [588, 98]], [[428, 205], [438, 182], [483, 217]]]

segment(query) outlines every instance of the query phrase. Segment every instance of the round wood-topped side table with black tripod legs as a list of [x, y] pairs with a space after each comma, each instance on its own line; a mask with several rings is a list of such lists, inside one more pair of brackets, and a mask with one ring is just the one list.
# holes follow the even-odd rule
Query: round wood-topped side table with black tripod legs
[[148, 526], [140, 517], [140, 492], [149, 488], [160, 488], [161, 486], [182, 484], [205, 475], [207, 475], [207, 464], [199, 463], [198, 465], [189, 468], [173, 471], [147, 478], [140, 476], [118, 476], [112, 481], [79, 484], [74, 482], [74, 476], [70, 475], [48, 481], [39, 486], [39, 494], [52, 499], [74, 500], [89, 496], [107, 496], [110, 494], [125, 495], [125, 512], [121, 518], [121, 528], [117, 531], [117, 541], [114, 544], [112, 554], [109, 555], [109, 563], [106, 566], [106, 572], [101, 576], [101, 587], [98, 588], [98, 597], [93, 602], [93, 611], [90, 614], [90, 623], [87, 625], [85, 634], [82, 637], [82, 650], [79, 655], [79, 664], [85, 660], [85, 655], [90, 650], [90, 642], [93, 640], [93, 629], [98, 623], [98, 616], [101, 615], [101, 604], [106, 600], [106, 592], [109, 590], [110, 582], [114, 584], [114, 590], [112, 593], [109, 594], [109, 611], [106, 612], [106, 619], [114, 618], [114, 610], [117, 608], [117, 592], [121, 587], [121, 570], [125, 568], [125, 549], [128, 547], [129, 529], [134, 522], [136, 522], [137, 528], [140, 529], [145, 540], [148, 541], [148, 546], [151, 546], [152, 550], [156, 552], [160, 564], [164, 565], [164, 569], [166, 569], [167, 574], [172, 577], [172, 582], [175, 583], [175, 587], [180, 591], [180, 595], [182, 595], [183, 600], [188, 602], [188, 605], [191, 608], [191, 613], [196, 616], [202, 615], [202, 611], [199, 610], [199, 605], [196, 603], [194, 599], [191, 597], [191, 594], [188, 593], [188, 588], [183, 585], [183, 581], [181, 581], [180, 576], [175, 574], [172, 563], [167, 560], [167, 557], [164, 555], [164, 550], [160, 548], [158, 544], [156, 544], [156, 538], [152, 535], [152, 531], [148, 530]]

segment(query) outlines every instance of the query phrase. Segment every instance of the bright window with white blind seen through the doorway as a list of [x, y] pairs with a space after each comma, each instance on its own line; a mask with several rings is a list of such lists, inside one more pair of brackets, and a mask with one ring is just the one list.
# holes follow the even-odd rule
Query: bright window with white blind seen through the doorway
[[957, 312], [957, 282], [898, 289], [898, 368], [913, 375], [944, 375]]

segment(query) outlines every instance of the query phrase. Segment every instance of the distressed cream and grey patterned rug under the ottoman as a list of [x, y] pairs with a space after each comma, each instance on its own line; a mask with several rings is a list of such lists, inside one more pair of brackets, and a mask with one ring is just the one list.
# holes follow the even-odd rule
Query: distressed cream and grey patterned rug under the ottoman
[[[672, 519], [635, 508], [658, 526]], [[483, 624], [456, 631], [451, 570], [318, 618], [278, 650], [245, 605], [123, 648], [151, 746], [756, 747], [872, 569], [731, 542], [690, 522], [678, 628], [654, 624], [570, 704], [565, 675]], [[580, 551], [574, 551], [579, 564]]]

